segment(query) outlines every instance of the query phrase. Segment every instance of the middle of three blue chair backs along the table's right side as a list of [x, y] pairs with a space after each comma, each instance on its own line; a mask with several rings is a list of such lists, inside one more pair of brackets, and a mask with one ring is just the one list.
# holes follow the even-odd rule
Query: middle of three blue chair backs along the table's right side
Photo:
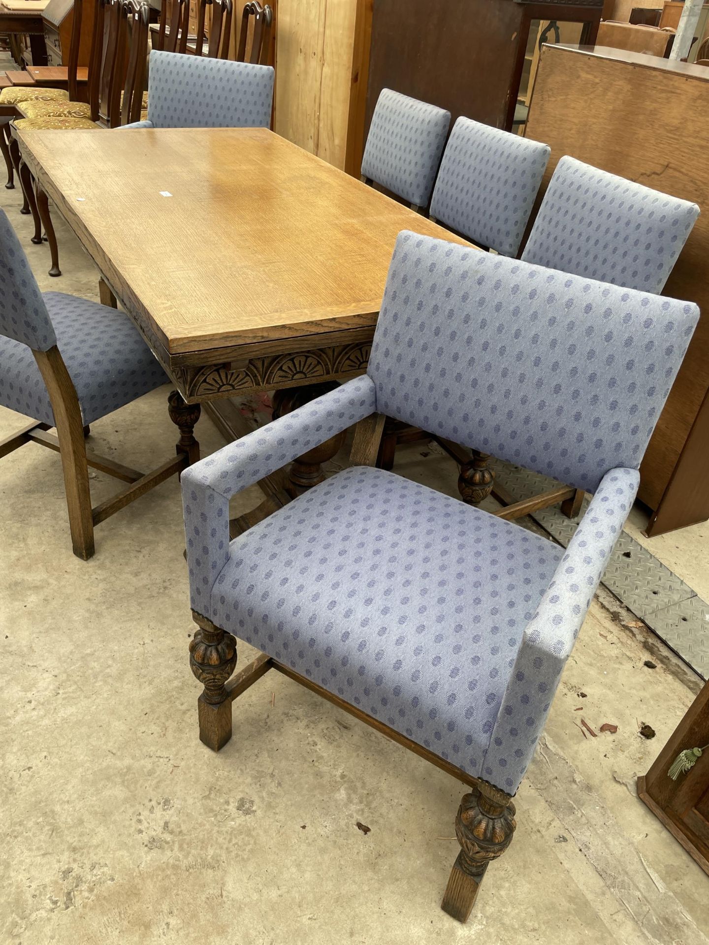
[[548, 145], [458, 118], [431, 216], [479, 246], [516, 256], [550, 153]]

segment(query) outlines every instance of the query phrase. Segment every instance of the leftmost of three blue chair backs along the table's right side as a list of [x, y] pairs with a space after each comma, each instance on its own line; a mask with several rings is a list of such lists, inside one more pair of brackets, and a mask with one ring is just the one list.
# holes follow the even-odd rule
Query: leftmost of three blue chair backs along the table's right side
[[362, 158], [362, 175], [425, 207], [441, 162], [451, 113], [383, 89]]

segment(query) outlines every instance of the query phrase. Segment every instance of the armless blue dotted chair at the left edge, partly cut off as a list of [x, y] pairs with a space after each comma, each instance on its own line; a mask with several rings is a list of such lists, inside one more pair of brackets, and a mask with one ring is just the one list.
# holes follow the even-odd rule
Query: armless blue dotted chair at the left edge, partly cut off
[[[34, 418], [0, 441], [0, 457], [35, 442], [61, 454], [74, 554], [94, 554], [94, 525], [199, 459], [192, 435], [199, 404], [173, 391], [169, 414], [180, 427], [177, 458], [143, 474], [87, 453], [89, 424], [168, 381], [122, 312], [61, 292], [40, 292], [26, 255], [0, 210], [0, 405]], [[57, 428], [57, 436], [49, 433]], [[91, 507], [88, 467], [129, 483]]]

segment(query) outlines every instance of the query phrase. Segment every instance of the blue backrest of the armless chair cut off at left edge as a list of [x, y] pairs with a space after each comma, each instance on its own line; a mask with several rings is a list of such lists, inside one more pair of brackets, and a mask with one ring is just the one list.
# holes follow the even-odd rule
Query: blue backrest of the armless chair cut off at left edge
[[57, 343], [42, 292], [4, 210], [0, 210], [0, 335], [40, 352]]

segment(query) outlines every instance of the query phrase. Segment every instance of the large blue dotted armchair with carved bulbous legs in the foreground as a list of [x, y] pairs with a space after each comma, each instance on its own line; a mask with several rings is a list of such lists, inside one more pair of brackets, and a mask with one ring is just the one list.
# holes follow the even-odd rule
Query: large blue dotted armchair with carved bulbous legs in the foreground
[[[275, 668], [470, 784], [442, 903], [467, 919], [698, 316], [400, 233], [367, 373], [182, 474], [202, 741]], [[568, 548], [370, 468], [383, 415], [594, 492]], [[230, 542], [235, 492], [354, 423], [357, 465]], [[263, 655], [228, 686], [234, 634]]]

